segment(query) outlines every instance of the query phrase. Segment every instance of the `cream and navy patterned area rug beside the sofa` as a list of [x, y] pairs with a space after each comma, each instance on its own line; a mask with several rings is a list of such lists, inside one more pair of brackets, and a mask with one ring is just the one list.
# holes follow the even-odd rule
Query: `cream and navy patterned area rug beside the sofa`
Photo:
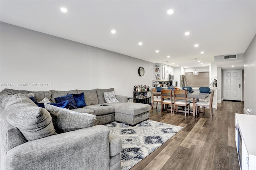
[[110, 129], [111, 134], [120, 136], [122, 140], [122, 170], [132, 168], [183, 128], [151, 120], [134, 127], [116, 121], [105, 126]]

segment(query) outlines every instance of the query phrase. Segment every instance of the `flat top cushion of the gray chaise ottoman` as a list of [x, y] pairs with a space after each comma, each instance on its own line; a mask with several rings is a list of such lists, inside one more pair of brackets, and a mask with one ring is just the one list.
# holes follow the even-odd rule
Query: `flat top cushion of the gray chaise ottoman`
[[109, 103], [108, 105], [113, 106], [115, 112], [133, 116], [140, 115], [150, 110], [150, 105], [142, 103]]

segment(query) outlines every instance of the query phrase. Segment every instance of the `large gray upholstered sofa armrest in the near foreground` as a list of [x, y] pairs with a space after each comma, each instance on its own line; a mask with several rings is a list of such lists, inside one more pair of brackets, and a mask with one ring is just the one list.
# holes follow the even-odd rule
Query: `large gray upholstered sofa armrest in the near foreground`
[[[103, 125], [47, 136], [8, 151], [6, 169], [109, 169], [109, 129]], [[100, 161], [100, 163], [99, 163]]]

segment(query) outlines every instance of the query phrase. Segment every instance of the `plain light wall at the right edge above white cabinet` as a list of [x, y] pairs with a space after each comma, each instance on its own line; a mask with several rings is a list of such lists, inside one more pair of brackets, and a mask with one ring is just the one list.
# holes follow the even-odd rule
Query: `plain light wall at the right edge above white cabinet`
[[244, 109], [256, 115], [256, 35], [244, 53]]

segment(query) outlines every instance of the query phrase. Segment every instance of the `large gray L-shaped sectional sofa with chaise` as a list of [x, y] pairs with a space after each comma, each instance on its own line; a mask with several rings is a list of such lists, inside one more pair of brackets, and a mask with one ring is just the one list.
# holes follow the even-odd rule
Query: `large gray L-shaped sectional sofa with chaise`
[[[116, 119], [131, 125], [144, 121], [149, 118], [150, 105], [127, 103], [126, 96], [116, 95], [119, 103], [100, 106], [100, 104], [105, 103], [103, 92], [110, 91], [114, 91], [114, 88], [70, 91], [2, 90], [0, 92], [0, 168], [26, 170], [120, 169], [120, 152], [122, 151], [120, 137], [109, 134], [109, 129], [103, 124]], [[95, 126], [28, 141], [19, 128], [10, 125], [6, 120], [6, 115], [8, 115], [6, 110], [8, 109], [3, 106], [6, 103], [2, 103], [2, 100], [10, 93], [34, 93], [36, 101], [41, 101], [47, 97], [51, 103], [55, 103], [56, 97], [82, 92], [87, 106], [74, 109], [74, 111], [95, 115]], [[22, 97], [22, 95], [19, 96]], [[31, 103], [30, 99], [25, 103], [35, 105]], [[127, 107], [133, 109], [126, 109]], [[115, 111], [118, 111], [118, 117], [115, 117]], [[129, 119], [128, 122], [122, 120], [122, 117]]]

